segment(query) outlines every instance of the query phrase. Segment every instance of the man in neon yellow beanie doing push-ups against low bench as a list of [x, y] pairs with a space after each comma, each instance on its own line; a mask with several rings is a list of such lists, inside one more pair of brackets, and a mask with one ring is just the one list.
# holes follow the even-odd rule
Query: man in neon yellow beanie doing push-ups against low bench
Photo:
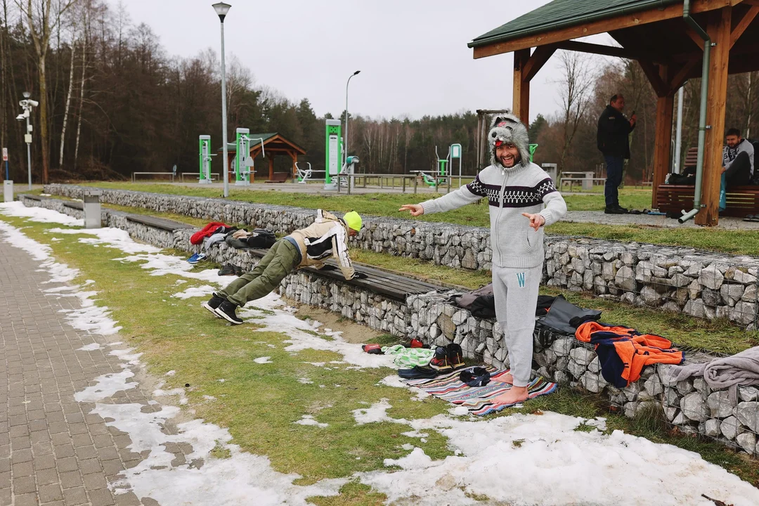
[[345, 279], [366, 278], [367, 275], [354, 271], [348, 258], [348, 236], [360, 230], [361, 216], [355, 211], [346, 212], [340, 219], [317, 209], [313, 224], [278, 240], [255, 269], [213, 294], [203, 307], [233, 325], [240, 325], [242, 319], [236, 314], [238, 306], [265, 297], [294, 269], [307, 266], [322, 269], [323, 259], [328, 256], [337, 259]]

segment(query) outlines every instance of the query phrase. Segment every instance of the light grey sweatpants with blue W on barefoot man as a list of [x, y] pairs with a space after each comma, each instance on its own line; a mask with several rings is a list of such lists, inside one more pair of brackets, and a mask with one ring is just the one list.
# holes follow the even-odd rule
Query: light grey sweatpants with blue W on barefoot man
[[527, 386], [532, 370], [532, 334], [543, 264], [531, 269], [493, 266], [496, 318], [504, 333], [514, 385]]

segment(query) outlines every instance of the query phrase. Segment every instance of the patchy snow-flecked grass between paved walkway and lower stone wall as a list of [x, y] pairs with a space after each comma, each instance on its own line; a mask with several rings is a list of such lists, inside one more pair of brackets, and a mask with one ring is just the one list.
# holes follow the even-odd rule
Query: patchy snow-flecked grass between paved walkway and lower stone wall
[[[40, 243], [49, 244], [57, 259], [80, 269], [80, 280], [93, 279], [98, 291], [96, 304], [106, 305], [123, 329], [119, 338], [143, 352], [144, 362], [154, 376], [165, 378], [165, 388], [191, 385], [187, 389], [188, 407], [198, 417], [228, 427], [235, 444], [245, 451], [269, 457], [274, 469], [282, 473], [299, 473], [302, 484], [329, 477], [351, 476], [355, 472], [385, 469], [383, 460], [408, 453], [401, 446], [411, 443], [423, 448], [433, 459], [451, 454], [446, 438], [430, 431], [426, 443], [408, 438], [400, 423], [370, 423], [357, 426], [351, 410], [388, 398], [389, 416], [407, 420], [428, 418], [449, 409], [436, 399], [411, 401], [402, 388], [379, 385], [380, 379], [394, 373], [392, 369], [357, 371], [336, 365], [329, 369], [307, 362], [339, 360], [339, 355], [317, 350], [303, 350], [292, 356], [284, 350], [286, 336], [278, 332], [260, 332], [255, 325], [232, 327], [219, 322], [200, 309], [200, 300], [175, 300], [171, 294], [200, 281], [187, 281], [179, 287], [175, 275], [151, 276], [136, 262], [115, 262], [124, 256], [118, 250], [93, 247], [78, 242], [77, 235], [65, 235], [51, 243], [46, 229], [59, 225], [27, 222], [20, 218], [2, 218], [23, 227], [24, 233]], [[152, 292], [152, 293], [148, 293]], [[397, 338], [382, 336], [379, 341]], [[269, 347], [271, 344], [272, 347]], [[272, 363], [255, 364], [263, 355]], [[175, 376], [165, 377], [174, 369]], [[304, 385], [307, 377], [313, 384]], [[225, 382], [219, 382], [219, 379]], [[343, 386], [336, 386], [336, 385]], [[320, 388], [325, 385], [325, 388]], [[211, 395], [216, 401], [206, 401]], [[647, 413], [636, 420], [609, 414], [603, 401], [591, 394], [578, 394], [559, 388], [540, 396], [523, 407], [504, 410], [511, 413], [540, 415], [551, 410], [587, 419], [607, 416], [609, 431], [622, 429], [655, 442], [665, 442], [696, 451], [704, 459], [725, 467], [751, 483], [759, 479], [759, 464], [741, 454], [718, 445], [685, 437], [663, 429], [660, 413]], [[314, 416], [325, 428], [294, 424], [304, 414]], [[223, 448], [214, 457], [225, 458]], [[357, 458], [360, 457], [360, 458]], [[334, 498], [313, 498], [323, 506], [374, 506], [386, 497], [367, 486], [349, 482], [342, 494]], [[486, 498], [477, 498], [486, 500]]]

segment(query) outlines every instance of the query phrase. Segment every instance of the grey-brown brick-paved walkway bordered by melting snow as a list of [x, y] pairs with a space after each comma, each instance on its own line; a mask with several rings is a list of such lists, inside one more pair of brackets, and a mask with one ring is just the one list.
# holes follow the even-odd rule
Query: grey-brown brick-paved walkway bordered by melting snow
[[[71, 328], [60, 310], [76, 297], [46, 295], [47, 272], [24, 250], [0, 240], [0, 506], [28, 504], [141, 503], [133, 493], [112, 495], [107, 482], [140, 454], [125, 449], [128, 435], [88, 414], [94, 404], [74, 401], [93, 379], [121, 371], [109, 349], [78, 348], [101, 336]], [[115, 394], [114, 402], [147, 406], [140, 388]]]

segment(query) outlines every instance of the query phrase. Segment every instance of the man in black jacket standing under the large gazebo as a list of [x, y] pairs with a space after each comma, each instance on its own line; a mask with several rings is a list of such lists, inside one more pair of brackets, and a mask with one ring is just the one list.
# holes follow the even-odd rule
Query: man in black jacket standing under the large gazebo
[[638, 121], [638, 118], [635, 112], [629, 120], [625, 118], [622, 115], [624, 108], [625, 97], [619, 94], [613, 95], [609, 100], [609, 105], [606, 105], [598, 118], [598, 149], [603, 153], [603, 159], [606, 161], [606, 187], [604, 187], [603, 195], [606, 197], [607, 215], [622, 215], [627, 212], [627, 209], [619, 205], [617, 189], [622, 184], [625, 159], [630, 158], [628, 136], [635, 128], [635, 121]]

